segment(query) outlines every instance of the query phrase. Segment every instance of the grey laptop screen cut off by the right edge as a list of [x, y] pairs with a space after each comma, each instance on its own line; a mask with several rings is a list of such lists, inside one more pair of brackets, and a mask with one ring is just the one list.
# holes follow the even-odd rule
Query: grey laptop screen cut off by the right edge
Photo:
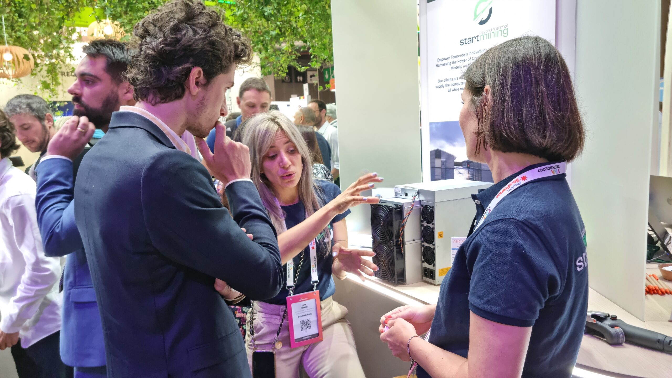
[[672, 224], [672, 177], [651, 176], [648, 194], [648, 226], [661, 242], [668, 258], [672, 252], [665, 245], [669, 237], [665, 224]]

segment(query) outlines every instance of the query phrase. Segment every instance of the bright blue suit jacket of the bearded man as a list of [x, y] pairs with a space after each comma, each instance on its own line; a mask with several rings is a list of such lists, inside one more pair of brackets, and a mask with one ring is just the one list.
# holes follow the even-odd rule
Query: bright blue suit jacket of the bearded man
[[69, 366], [103, 366], [103, 329], [75, 224], [73, 162], [62, 158], [42, 160], [37, 170], [36, 207], [44, 254], [69, 255], [63, 273], [60, 359]]

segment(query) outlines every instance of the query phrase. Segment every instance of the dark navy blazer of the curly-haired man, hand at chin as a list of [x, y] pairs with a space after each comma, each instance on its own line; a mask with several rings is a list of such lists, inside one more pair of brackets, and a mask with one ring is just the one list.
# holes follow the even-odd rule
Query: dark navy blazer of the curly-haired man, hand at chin
[[233, 219], [198, 160], [142, 115], [112, 114], [75, 183], [108, 377], [251, 377], [214, 278], [268, 299], [282, 286], [282, 263], [254, 184], [231, 183], [226, 196]]

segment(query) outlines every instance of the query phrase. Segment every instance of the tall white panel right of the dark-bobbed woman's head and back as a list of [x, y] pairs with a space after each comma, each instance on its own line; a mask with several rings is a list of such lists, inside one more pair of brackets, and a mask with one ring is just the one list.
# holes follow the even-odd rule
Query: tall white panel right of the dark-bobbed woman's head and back
[[659, 1], [577, 2], [575, 85], [587, 139], [572, 190], [587, 231], [589, 284], [641, 320], [660, 13]]

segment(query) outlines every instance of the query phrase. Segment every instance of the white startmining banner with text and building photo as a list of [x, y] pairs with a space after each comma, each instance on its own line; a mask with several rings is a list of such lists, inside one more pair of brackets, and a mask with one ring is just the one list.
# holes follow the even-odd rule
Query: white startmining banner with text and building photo
[[485, 163], [466, 156], [460, 130], [461, 79], [487, 49], [536, 35], [555, 42], [555, 0], [421, 0], [423, 181], [493, 182]]

